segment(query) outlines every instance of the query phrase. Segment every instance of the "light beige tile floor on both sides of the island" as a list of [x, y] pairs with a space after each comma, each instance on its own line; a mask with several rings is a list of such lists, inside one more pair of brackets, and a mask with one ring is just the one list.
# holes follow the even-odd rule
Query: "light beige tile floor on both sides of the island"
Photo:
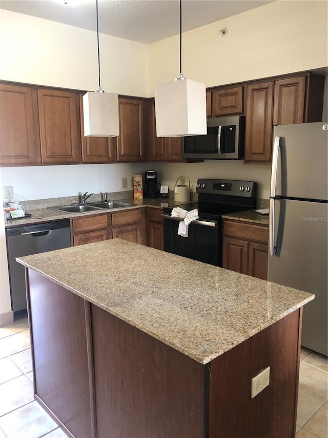
[[[327, 438], [327, 359], [301, 350], [297, 438]], [[0, 327], [0, 438], [65, 438], [33, 398], [27, 318]], [[241, 437], [239, 437], [241, 438]]]

